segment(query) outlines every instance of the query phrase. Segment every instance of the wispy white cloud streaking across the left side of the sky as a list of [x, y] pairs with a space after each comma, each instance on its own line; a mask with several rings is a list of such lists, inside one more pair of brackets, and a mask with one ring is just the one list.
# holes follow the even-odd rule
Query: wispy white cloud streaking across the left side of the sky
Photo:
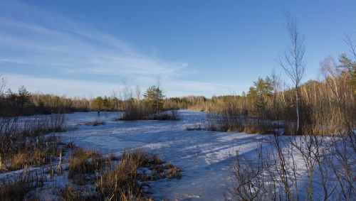
[[[170, 96], [184, 94], [221, 94], [234, 86], [184, 80], [196, 72], [184, 62], [160, 60], [140, 53], [131, 45], [74, 17], [62, 16], [21, 1], [7, 1], [0, 9], [0, 70], [11, 71], [14, 65], [24, 73], [10, 72], [9, 85], [26, 85], [31, 89], [59, 94], [101, 95], [116, 84], [90, 76], [117, 75], [131, 85], [147, 87], [160, 77]], [[43, 67], [56, 67], [51, 79], [26, 75]], [[60, 75], [89, 75], [69, 80]], [[36, 73], [33, 73], [36, 74]], [[54, 77], [54, 78], [53, 78]], [[79, 76], [78, 76], [79, 77]], [[107, 89], [104, 89], [108, 87]]]

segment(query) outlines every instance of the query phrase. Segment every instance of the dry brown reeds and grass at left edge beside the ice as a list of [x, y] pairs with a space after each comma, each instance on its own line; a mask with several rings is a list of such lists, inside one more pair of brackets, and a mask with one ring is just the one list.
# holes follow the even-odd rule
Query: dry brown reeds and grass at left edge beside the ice
[[58, 136], [65, 131], [62, 114], [37, 118], [0, 118], [0, 172], [41, 166], [61, 153]]

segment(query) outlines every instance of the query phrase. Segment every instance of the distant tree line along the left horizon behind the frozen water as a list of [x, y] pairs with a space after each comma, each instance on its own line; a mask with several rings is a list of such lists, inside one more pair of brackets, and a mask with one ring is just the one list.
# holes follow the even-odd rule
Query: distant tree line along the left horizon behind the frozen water
[[[134, 95], [135, 94], [135, 95]], [[140, 107], [153, 109], [154, 113], [169, 109], [187, 109], [192, 104], [206, 101], [205, 97], [165, 97], [162, 89], [149, 87], [142, 95], [140, 87], [135, 92], [124, 86], [120, 95], [113, 92], [110, 96], [99, 96], [92, 99], [58, 96], [28, 92], [25, 86], [17, 92], [6, 89], [6, 80], [0, 75], [0, 116], [26, 116], [33, 114], [53, 114], [89, 111], [125, 111], [127, 107], [139, 104]]]

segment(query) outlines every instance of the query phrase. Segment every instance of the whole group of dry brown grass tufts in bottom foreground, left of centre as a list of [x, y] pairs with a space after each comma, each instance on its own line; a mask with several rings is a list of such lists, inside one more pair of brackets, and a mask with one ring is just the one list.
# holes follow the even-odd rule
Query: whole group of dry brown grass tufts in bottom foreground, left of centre
[[[78, 148], [69, 163], [68, 178], [86, 188], [93, 185], [94, 194], [89, 195], [94, 200], [148, 200], [144, 190], [147, 181], [181, 175], [179, 168], [142, 149], [125, 151], [118, 161], [113, 161], [112, 156], [105, 158], [98, 152]], [[86, 196], [71, 186], [61, 190], [64, 200], [88, 200]]]

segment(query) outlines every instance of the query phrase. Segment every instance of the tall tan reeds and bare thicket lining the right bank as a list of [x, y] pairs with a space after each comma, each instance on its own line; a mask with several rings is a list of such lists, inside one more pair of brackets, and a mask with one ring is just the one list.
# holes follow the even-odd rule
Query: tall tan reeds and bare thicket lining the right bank
[[[356, 110], [356, 99], [349, 84], [352, 79], [350, 73], [330, 59], [323, 63], [322, 72], [325, 80], [310, 80], [299, 87], [299, 132], [295, 116], [295, 89], [283, 89], [282, 85], [273, 85], [274, 82], [268, 79], [264, 84], [271, 85], [271, 89], [261, 97], [252, 91], [243, 96], [213, 97], [201, 104], [202, 109], [209, 112], [208, 129], [273, 133], [283, 122], [285, 134], [307, 134], [310, 131], [340, 134], [345, 129], [352, 132], [352, 128], [356, 127], [353, 112]], [[258, 85], [255, 88], [258, 89]]]

